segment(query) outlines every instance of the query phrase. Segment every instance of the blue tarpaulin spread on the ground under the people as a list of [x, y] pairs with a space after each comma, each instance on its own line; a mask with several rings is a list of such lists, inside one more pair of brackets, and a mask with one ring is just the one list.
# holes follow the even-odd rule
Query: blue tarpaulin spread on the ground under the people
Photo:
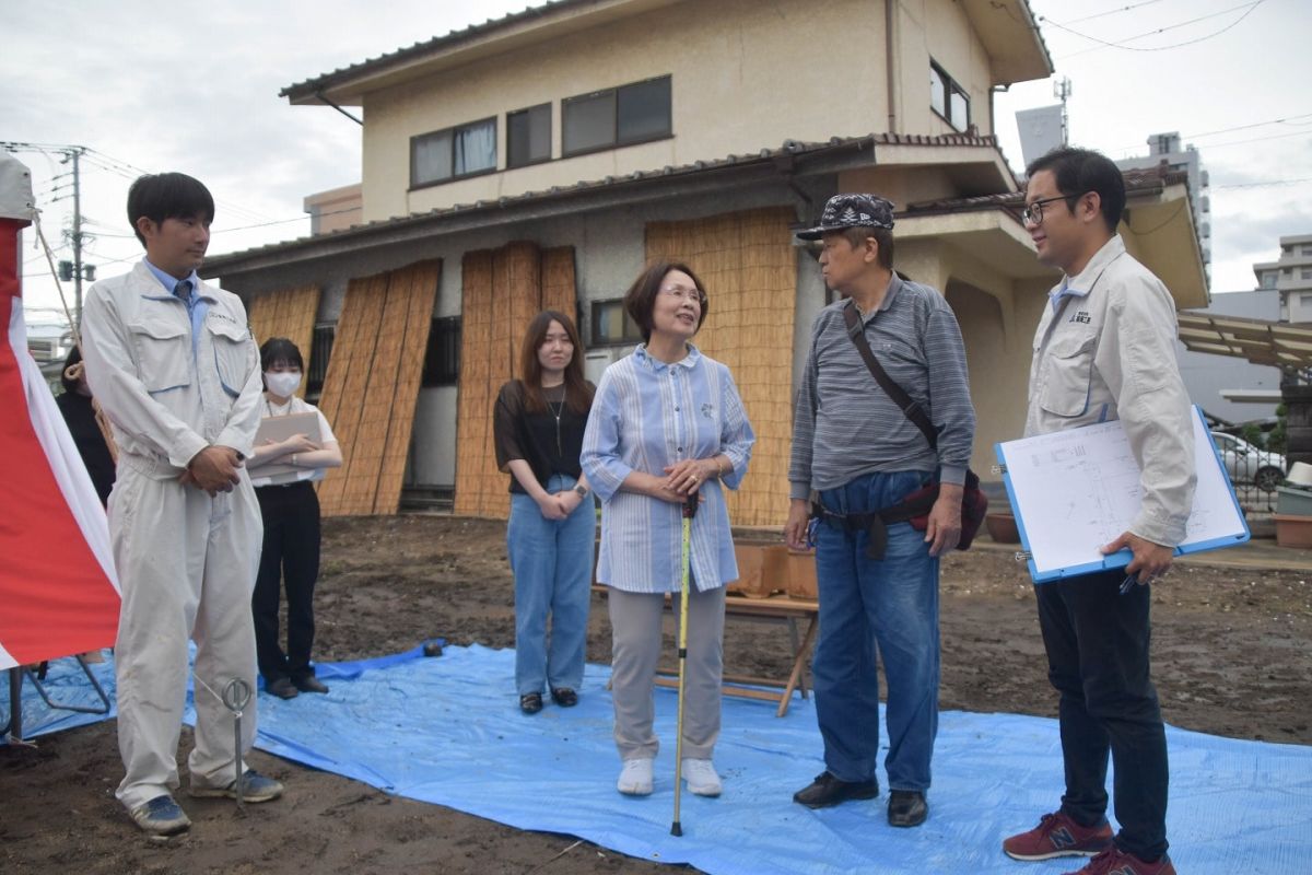
[[[109, 665], [96, 666], [106, 689]], [[76, 670], [76, 669], [75, 669]], [[55, 672], [64, 677], [67, 670]], [[1078, 861], [1017, 863], [1004, 836], [1056, 807], [1061, 756], [1051, 719], [946, 712], [934, 753], [930, 817], [893, 829], [883, 796], [824, 811], [791, 802], [823, 770], [810, 701], [787, 716], [773, 704], [728, 698], [715, 765], [724, 795], [682, 796], [684, 836], [673, 815], [673, 691], [657, 690], [656, 728], [665, 748], [656, 791], [615, 792], [606, 666], [589, 666], [575, 708], [547, 703], [525, 716], [514, 695], [513, 651], [420, 649], [365, 662], [319, 666], [328, 695], [260, 697], [257, 746], [387, 792], [449, 805], [520, 829], [567, 833], [656, 862], [706, 872], [1065, 872]], [[52, 685], [60, 685], [52, 677]], [[85, 686], [85, 681], [72, 681]], [[203, 694], [203, 691], [202, 691]], [[28, 695], [25, 723], [43, 706]], [[94, 718], [89, 718], [94, 719]], [[75, 716], [43, 727], [88, 722]], [[1168, 727], [1172, 858], [1191, 875], [1299, 874], [1312, 861], [1312, 748], [1236, 741]], [[880, 775], [883, 784], [883, 775]], [[295, 794], [295, 779], [289, 782]], [[1075, 863], [1075, 865], [1072, 865]]]

